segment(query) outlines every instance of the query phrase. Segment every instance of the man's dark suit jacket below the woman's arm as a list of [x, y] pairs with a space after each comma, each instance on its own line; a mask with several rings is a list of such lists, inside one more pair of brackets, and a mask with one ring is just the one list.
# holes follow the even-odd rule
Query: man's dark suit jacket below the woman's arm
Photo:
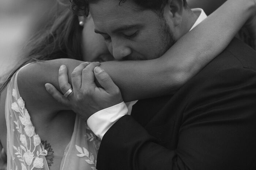
[[104, 135], [98, 170], [256, 170], [256, 52], [234, 39], [174, 96], [132, 115]]

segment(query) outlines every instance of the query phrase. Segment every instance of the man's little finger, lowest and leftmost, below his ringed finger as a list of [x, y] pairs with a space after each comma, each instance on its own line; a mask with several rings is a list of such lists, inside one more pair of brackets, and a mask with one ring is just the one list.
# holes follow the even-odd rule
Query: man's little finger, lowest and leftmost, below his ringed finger
[[63, 96], [52, 84], [46, 83], [45, 84], [46, 91], [60, 104], [69, 107], [69, 100]]

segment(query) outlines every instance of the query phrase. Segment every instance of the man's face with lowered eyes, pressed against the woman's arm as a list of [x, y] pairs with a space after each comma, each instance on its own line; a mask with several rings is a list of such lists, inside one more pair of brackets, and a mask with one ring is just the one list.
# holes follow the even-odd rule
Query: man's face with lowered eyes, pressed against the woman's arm
[[95, 32], [100, 33], [117, 60], [148, 60], [160, 57], [174, 44], [164, 17], [140, 10], [132, 0], [101, 0], [90, 4]]

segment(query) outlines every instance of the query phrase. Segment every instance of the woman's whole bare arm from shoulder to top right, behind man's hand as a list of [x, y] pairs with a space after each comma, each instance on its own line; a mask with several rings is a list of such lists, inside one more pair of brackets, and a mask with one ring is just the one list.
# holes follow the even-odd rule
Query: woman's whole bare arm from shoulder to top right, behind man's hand
[[[227, 0], [162, 57], [147, 61], [105, 62], [101, 67], [120, 88], [125, 101], [173, 94], [225, 49], [254, 11], [253, 0]], [[59, 59], [33, 63], [24, 68], [19, 73], [18, 86], [28, 109], [45, 113], [65, 109], [46, 92], [44, 84], [51, 83], [59, 88], [60, 65], [68, 67], [70, 78], [72, 70], [80, 63]]]

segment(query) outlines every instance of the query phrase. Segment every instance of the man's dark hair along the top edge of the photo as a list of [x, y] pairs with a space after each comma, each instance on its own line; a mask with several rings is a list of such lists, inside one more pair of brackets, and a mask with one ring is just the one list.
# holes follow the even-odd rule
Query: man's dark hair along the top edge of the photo
[[[89, 4], [97, 3], [100, 0], [70, 0], [71, 9], [77, 15], [86, 15], [89, 14]], [[119, 0], [119, 5], [125, 3], [127, 0]], [[151, 9], [153, 11], [159, 12], [162, 11], [163, 7], [168, 3], [168, 0], [132, 0], [142, 9]], [[183, 0], [184, 7], [187, 7], [187, 1]]]

